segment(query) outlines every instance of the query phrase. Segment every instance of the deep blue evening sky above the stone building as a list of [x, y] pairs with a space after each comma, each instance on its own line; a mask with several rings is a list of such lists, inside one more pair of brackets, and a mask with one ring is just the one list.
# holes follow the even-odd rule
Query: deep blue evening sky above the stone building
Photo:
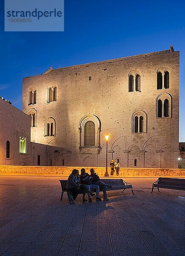
[[[22, 109], [22, 79], [58, 68], [170, 49], [180, 51], [180, 136], [185, 141], [185, 1], [65, 0], [64, 32], [4, 32], [0, 96]], [[168, 128], [167, 128], [168, 129]]]

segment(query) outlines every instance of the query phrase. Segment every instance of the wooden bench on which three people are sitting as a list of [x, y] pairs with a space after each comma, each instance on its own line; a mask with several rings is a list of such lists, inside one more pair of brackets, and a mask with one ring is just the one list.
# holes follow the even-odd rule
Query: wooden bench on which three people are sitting
[[[125, 180], [122, 180], [122, 179], [100, 179], [100, 180], [102, 182], [112, 186], [111, 189], [106, 188], [107, 191], [122, 189], [122, 192], [123, 192], [125, 189], [131, 189], [131, 192], [134, 195], [134, 190], [132, 188], [132, 184], [126, 182]], [[71, 200], [70, 200], [70, 197], [69, 197], [70, 193], [69, 193], [68, 189], [66, 188], [67, 180], [59, 180], [59, 181], [60, 181], [60, 185], [61, 185], [61, 188], [62, 188], [62, 193], [61, 193], [61, 199], [60, 200], [62, 200], [64, 192], [67, 192], [68, 200], [71, 203]], [[102, 191], [102, 189], [100, 189], [100, 191]], [[96, 190], [91, 189], [91, 192], [96, 192]]]

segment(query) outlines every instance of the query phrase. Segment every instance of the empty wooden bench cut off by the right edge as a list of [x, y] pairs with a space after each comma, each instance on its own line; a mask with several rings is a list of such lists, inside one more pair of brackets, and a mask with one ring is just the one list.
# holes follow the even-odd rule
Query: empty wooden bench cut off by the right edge
[[158, 191], [159, 188], [185, 190], [185, 179], [160, 177], [153, 183], [151, 192], [153, 192], [154, 188], [157, 188]]

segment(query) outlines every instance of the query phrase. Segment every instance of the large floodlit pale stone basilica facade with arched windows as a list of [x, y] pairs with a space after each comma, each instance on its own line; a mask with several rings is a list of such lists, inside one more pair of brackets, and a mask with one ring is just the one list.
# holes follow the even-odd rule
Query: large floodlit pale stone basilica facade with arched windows
[[50, 68], [23, 79], [23, 112], [32, 142], [62, 148], [57, 165], [105, 166], [108, 133], [108, 166], [176, 168], [179, 52]]

